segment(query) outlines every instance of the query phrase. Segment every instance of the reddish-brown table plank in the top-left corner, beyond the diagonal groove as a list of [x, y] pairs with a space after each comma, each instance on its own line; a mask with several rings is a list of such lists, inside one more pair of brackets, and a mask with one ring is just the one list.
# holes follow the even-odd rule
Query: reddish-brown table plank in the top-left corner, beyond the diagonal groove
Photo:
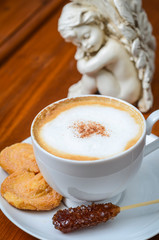
[[63, 0], [18, 0], [15, 6], [8, 0], [1, 5], [0, 64], [56, 11], [60, 2]]

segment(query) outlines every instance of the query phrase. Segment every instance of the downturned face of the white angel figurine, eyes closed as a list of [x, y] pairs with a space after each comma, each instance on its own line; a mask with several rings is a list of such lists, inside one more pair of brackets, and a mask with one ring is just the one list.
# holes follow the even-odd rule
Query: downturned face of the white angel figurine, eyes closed
[[84, 52], [96, 52], [104, 42], [104, 32], [95, 24], [81, 25], [75, 27], [74, 31], [76, 37], [73, 43]]

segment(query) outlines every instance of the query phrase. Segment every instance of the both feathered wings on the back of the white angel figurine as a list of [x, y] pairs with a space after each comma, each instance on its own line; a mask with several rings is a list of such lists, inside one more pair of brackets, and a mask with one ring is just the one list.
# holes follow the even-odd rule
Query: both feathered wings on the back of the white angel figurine
[[156, 41], [152, 26], [142, 8], [142, 0], [72, 0], [95, 7], [106, 20], [107, 28], [130, 54], [142, 81], [142, 96], [138, 102], [142, 112], [153, 104], [151, 81], [154, 74]]

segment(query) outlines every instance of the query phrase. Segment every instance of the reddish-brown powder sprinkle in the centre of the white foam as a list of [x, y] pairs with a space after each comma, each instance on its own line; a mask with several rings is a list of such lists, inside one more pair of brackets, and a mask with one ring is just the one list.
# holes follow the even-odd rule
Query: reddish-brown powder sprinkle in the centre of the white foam
[[109, 132], [105, 127], [94, 121], [77, 121], [70, 126], [75, 130], [75, 135], [79, 138], [88, 138], [93, 134], [109, 137]]

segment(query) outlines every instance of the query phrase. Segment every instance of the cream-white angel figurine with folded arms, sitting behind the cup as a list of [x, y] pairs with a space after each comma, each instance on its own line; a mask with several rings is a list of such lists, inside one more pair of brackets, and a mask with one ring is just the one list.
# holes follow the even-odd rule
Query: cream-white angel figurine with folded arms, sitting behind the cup
[[63, 8], [58, 30], [77, 46], [81, 80], [68, 96], [93, 94], [138, 104], [153, 104], [156, 41], [141, 0], [72, 0]]

